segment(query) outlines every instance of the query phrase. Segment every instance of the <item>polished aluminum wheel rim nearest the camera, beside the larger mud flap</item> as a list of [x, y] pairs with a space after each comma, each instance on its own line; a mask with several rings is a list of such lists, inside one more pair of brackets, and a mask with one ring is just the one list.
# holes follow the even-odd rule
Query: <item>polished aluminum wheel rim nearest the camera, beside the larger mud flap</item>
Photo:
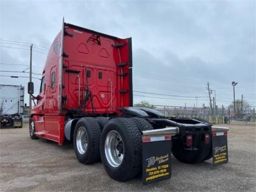
[[117, 131], [110, 131], [105, 140], [105, 155], [108, 163], [113, 167], [118, 167], [124, 159], [124, 143]]

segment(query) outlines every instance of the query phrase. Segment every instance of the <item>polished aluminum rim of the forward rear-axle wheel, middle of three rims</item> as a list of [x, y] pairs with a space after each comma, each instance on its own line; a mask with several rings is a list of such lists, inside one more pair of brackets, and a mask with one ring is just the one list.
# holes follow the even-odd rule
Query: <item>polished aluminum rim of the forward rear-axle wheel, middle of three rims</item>
[[80, 154], [84, 154], [86, 152], [87, 145], [88, 145], [87, 142], [88, 142], [88, 135], [87, 135], [86, 129], [85, 127], [81, 126], [79, 127], [77, 131], [77, 136], [76, 136], [76, 146]]

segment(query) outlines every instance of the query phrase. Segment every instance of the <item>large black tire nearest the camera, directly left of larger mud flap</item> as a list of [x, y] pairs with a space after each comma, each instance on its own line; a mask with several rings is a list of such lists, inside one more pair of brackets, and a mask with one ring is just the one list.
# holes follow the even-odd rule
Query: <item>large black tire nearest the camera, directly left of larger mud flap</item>
[[[118, 166], [112, 166], [105, 153], [106, 137], [111, 132], [117, 132], [122, 139], [123, 159]], [[117, 150], [117, 147], [115, 150]], [[100, 138], [100, 157], [108, 175], [118, 181], [136, 177], [141, 172], [141, 156], [141, 134], [134, 120], [130, 118], [113, 118], [109, 120]]]

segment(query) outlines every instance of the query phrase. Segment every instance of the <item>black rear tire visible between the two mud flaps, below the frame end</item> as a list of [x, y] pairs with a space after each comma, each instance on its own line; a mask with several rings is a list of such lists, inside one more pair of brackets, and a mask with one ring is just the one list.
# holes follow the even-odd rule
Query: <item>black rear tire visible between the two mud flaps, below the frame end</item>
[[182, 138], [173, 138], [172, 140], [172, 153], [182, 163], [194, 164], [205, 161], [211, 152], [211, 142], [205, 144], [204, 140], [199, 139], [199, 144], [196, 146], [197, 150], [186, 150], [184, 149], [184, 140]]

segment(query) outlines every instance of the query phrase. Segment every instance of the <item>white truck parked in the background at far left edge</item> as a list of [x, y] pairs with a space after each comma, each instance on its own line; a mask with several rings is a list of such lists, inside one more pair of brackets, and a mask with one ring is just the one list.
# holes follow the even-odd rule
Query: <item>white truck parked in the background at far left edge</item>
[[22, 127], [24, 86], [0, 84], [1, 127]]

